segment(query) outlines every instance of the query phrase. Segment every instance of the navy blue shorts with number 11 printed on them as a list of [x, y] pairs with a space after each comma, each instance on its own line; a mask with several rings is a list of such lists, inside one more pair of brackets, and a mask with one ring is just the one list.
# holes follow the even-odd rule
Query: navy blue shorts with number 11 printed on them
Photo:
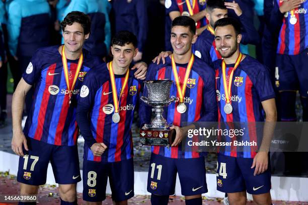
[[147, 176], [147, 191], [157, 195], [175, 193], [177, 173], [182, 195], [190, 196], [207, 192], [204, 157], [174, 159], [151, 154]]

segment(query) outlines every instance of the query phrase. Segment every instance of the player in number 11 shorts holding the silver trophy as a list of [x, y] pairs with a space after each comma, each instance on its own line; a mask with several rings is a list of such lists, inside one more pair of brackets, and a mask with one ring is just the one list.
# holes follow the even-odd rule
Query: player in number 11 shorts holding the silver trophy
[[[217, 120], [214, 71], [191, 52], [192, 44], [197, 39], [195, 31], [193, 19], [186, 16], [175, 18], [170, 39], [174, 53], [166, 58], [166, 64], [152, 63], [146, 76], [146, 80], [176, 81], [170, 90], [170, 97], [176, 100], [164, 112], [167, 122], [174, 125], [171, 129], [176, 130], [175, 141], [171, 149], [152, 146], [147, 191], [152, 193], [153, 205], [168, 203], [169, 195], [175, 192], [177, 173], [186, 204], [202, 204], [201, 194], [207, 192], [205, 153], [196, 152], [192, 147], [184, 144], [182, 146], [181, 143], [187, 130], [195, 128], [190, 123]], [[147, 95], [147, 89], [144, 89], [143, 95]], [[141, 120], [141, 125], [149, 124], [151, 108], [142, 103], [140, 110], [145, 116], [145, 121]]]

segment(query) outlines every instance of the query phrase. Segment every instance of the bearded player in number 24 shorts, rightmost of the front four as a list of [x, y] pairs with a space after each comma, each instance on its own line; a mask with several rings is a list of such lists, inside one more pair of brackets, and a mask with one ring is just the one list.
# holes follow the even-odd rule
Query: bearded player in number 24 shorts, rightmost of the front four
[[[246, 127], [243, 138], [225, 136], [225, 139], [232, 143], [248, 139], [247, 142], [261, 144], [259, 149], [257, 146], [219, 148], [217, 190], [228, 194], [229, 204], [246, 204], [246, 191], [253, 194], [257, 204], [271, 204], [268, 151], [274, 127], [270, 122], [276, 121], [277, 113], [269, 71], [254, 58], [240, 52], [242, 35], [237, 20], [218, 20], [214, 32], [216, 48], [223, 58], [214, 61], [218, 122], [226, 122], [230, 127], [232, 122], [241, 122], [241, 126]], [[252, 123], [264, 120], [264, 134], [259, 142]]]

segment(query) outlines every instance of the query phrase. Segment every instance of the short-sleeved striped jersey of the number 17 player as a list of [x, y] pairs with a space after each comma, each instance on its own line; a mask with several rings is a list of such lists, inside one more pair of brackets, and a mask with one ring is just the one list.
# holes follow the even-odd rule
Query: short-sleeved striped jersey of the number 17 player
[[[83, 50], [84, 61], [71, 91], [65, 82], [59, 46], [38, 49], [33, 55], [23, 79], [34, 86], [33, 104], [29, 112], [24, 134], [42, 142], [72, 146], [76, 144], [78, 127], [75, 120], [76, 100], [86, 73], [100, 60]], [[78, 60], [67, 59], [68, 77], [72, 84]]]

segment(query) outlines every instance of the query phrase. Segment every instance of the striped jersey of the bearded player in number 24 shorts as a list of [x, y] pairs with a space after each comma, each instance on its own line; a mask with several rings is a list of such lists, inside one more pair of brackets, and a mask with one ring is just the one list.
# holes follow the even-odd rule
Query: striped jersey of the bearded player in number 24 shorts
[[[241, 126], [246, 126], [246, 131], [242, 137], [243, 141], [257, 142], [257, 132], [254, 122], [263, 122], [263, 109], [261, 102], [275, 97], [268, 69], [260, 64], [256, 59], [246, 55], [239, 66], [234, 71], [233, 79], [229, 82], [228, 76], [234, 64], [226, 65], [227, 83], [232, 83], [230, 104], [233, 107], [231, 114], [226, 114], [223, 107], [226, 104], [225, 91], [223, 86], [221, 59], [214, 62], [216, 77], [216, 94], [218, 101], [218, 122], [241, 122]], [[245, 124], [246, 123], [246, 124]], [[230, 126], [232, 126], [230, 124]], [[230, 128], [231, 129], [231, 128]], [[226, 142], [237, 140], [237, 137], [225, 137]], [[232, 149], [232, 151], [230, 151]], [[237, 147], [226, 146], [220, 153], [233, 156], [253, 158], [256, 154], [255, 147], [245, 146], [245, 151], [237, 151]]]

